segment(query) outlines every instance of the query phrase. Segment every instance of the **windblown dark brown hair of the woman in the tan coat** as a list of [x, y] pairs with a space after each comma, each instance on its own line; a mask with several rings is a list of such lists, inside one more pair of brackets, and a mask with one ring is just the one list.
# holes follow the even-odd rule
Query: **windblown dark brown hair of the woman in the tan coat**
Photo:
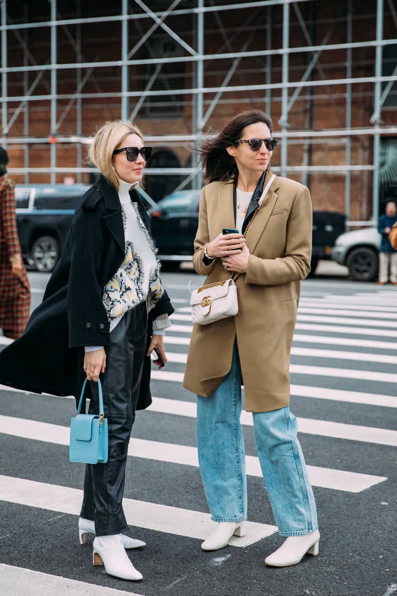
[[268, 129], [273, 129], [270, 116], [261, 110], [243, 111], [229, 120], [223, 130], [212, 139], [202, 141], [197, 149], [204, 169], [204, 176], [210, 182], [229, 180], [237, 175], [234, 157], [229, 155], [226, 147], [231, 147], [240, 138], [242, 130], [250, 124], [263, 122]]

